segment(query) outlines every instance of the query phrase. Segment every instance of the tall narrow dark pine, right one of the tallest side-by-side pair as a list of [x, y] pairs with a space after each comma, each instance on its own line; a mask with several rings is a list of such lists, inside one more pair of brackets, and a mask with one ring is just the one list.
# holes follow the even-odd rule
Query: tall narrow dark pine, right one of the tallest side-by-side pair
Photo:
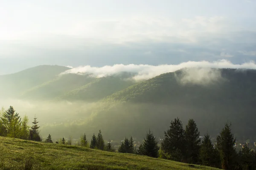
[[186, 162], [190, 164], [198, 163], [198, 155], [201, 139], [198, 127], [193, 119], [189, 119], [185, 130]]

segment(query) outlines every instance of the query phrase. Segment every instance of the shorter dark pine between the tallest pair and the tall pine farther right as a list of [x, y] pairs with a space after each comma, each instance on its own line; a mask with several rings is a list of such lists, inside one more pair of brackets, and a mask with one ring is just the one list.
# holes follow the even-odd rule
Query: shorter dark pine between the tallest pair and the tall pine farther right
[[210, 136], [206, 134], [201, 144], [199, 159], [201, 164], [210, 167], [220, 167], [218, 151], [213, 147]]

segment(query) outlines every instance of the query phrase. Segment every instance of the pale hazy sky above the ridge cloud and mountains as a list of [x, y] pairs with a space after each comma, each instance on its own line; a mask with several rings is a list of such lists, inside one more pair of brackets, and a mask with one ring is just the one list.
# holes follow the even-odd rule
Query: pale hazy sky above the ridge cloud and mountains
[[0, 0], [0, 75], [256, 60], [256, 0]]

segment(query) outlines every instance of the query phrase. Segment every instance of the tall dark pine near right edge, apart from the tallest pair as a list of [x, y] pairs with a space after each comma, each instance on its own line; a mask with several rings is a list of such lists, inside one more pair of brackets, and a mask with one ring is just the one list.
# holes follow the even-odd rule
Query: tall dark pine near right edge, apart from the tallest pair
[[221, 167], [224, 170], [234, 169], [236, 161], [236, 150], [234, 148], [236, 139], [234, 139], [230, 127], [231, 124], [226, 123], [220, 135], [217, 136], [217, 148], [220, 153]]

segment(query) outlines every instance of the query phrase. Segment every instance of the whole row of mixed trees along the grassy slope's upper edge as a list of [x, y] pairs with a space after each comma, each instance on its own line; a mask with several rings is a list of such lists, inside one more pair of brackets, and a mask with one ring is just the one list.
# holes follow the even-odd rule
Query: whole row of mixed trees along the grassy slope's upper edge
[[[20, 118], [12, 106], [6, 111], [0, 111], [0, 136], [20, 138], [25, 140], [42, 141], [39, 134], [37, 118], [32, 122], [32, 127], [28, 126], [28, 118]], [[52, 142], [51, 135], [45, 142]], [[72, 138], [67, 141], [60, 139], [58, 144], [72, 144]], [[193, 119], [189, 119], [185, 129], [179, 118], [171, 121], [171, 125], [164, 132], [164, 138], [160, 144], [154, 134], [149, 130], [143, 142], [138, 148], [134, 147], [132, 136], [130, 139], [125, 137], [117, 150], [113, 149], [111, 141], [105, 142], [102, 131], [99, 130], [96, 136], [93, 133], [90, 143], [86, 134], [80, 137], [80, 144], [91, 149], [105, 150], [109, 152], [131, 153], [150, 156], [160, 159], [169, 159], [189, 164], [201, 164], [211, 167], [222, 168], [225, 170], [255, 170], [256, 169], [256, 150], [250, 150], [245, 144], [239, 152], [236, 152], [236, 139], [231, 132], [231, 124], [226, 123], [212, 143], [209, 134], [200, 138], [200, 132]]]

